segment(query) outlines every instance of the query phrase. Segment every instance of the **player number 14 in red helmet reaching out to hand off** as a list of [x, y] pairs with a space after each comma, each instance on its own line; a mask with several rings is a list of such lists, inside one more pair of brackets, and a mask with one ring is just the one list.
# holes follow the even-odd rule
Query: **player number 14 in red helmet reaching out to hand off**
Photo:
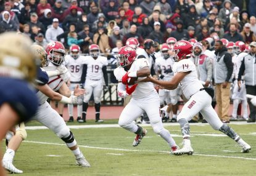
[[209, 122], [210, 126], [215, 130], [220, 130], [228, 137], [232, 138], [242, 148], [243, 153], [249, 152], [250, 145], [242, 140], [234, 130], [223, 124], [218, 118], [216, 111], [212, 108], [212, 98], [214, 91], [211, 88], [203, 87], [199, 79], [197, 78], [196, 66], [191, 60], [186, 59], [188, 55], [192, 54], [192, 44], [188, 41], [178, 41], [173, 46], [175, 52], [175, 61], [173, 65], [173, 71], [175, 76], [171, 81], [159, 81], [151, 77], [146, 80], [159, 84], [165, 89], [175, 89], [178, 84], [181, 85], [183, 94], [188, 99], [178, 114], [178, 122], [180, 123], [181, 133], [183, 135], [183, 148], [173, 151], [173, 154], [192, 154], [194, 151], [191, 147], [190, 141], [190, 127], [188, 121], [197, 113], [202, 113], [202, 116]]

